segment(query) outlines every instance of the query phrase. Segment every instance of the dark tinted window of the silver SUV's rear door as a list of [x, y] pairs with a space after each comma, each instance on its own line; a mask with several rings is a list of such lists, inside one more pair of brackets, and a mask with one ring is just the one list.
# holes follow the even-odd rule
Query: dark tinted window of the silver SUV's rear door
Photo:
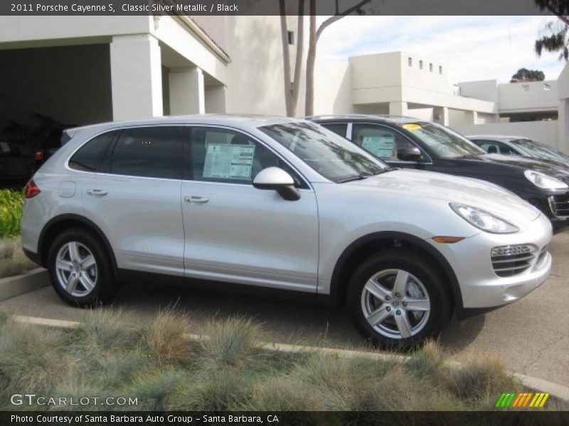
[[182, 131], [176, 126], [124, 129], [112, 151], [110, 173], [181, 179]]

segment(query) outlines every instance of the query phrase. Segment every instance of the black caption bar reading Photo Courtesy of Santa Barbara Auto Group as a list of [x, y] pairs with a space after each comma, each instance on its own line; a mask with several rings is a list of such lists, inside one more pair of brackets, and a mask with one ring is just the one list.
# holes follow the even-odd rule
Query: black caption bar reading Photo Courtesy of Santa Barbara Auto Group
[[547, 425], [569, 424], [569, 412], [539, 409], [484, 412], [0, 412], [2, 426], [190, 426], [190, 425], [272, 425], [272, 426], [393, 426], [393, 425]]

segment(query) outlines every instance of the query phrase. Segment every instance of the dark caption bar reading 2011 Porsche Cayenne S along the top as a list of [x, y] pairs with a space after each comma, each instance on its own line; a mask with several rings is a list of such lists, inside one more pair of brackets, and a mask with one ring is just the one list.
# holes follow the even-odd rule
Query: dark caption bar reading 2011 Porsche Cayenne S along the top
[[[304, 1], [304, 14], [309, 12]], [[285, 14], [298, 15], [299, 1], [286, 0]], [[543, 15], [535, 0], [316, 0], [317, 15], [391, 16]], [[2, 0], [3, 16], [280, 15], [279, 0]]]

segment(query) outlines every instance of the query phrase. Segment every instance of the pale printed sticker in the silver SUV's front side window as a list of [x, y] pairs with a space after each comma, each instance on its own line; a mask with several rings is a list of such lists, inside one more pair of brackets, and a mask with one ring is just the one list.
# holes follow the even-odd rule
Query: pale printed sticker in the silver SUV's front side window
[[208, 143], [203, 178], [248, 180], [254, 155], [255, 145]]

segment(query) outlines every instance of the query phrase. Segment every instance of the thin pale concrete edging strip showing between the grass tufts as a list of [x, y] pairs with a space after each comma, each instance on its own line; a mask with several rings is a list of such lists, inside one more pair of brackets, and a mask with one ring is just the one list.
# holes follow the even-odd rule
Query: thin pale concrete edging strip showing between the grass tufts
[[[25, 324], [40, 325], [43, 327], [55, 327], [63, 329], [75, 329], [80, 327], [81, 322], [77, 321], [64, 321], [64, 320], [49, 320], [47, 318], [37, 318], [37, 317], [24, 317], [21, 315], [14, 315], [12, 319], [16, 322], [21, 322]], [[184, 334], [184, 337], [191, 341], [198, 341], [200, 339], [208, 339], [207, 336], [202, 336], [200, 334]], [[376, 359], [381, 361], [395, 361], [395, 362], [405, 362], [410, 358], [405, 355], [397, 354], [381, 354], [378, 352], [366, 352], [366, 351], [351, 351], [348, 349], [334, 349], [334, 348], [324, 348], [318, 346], [303, 346], [303, 345], [293, 345], [284, 343], [270, 343], [270, 342], [258, 342], [255, 346], [259, 349], [265, 349], [267, 351], [281, 351], [289, 353], [297, 352], [319, 352], [321, 354], [330, 354], [344, 357], [354, 357], [359, 356], [367, 359]], [[445, 363], [449, 366], [459, 366], [460, 363], [457, 361], [448, 361]], [[553, 383], [550, 381], [543, 380], [542, 378], [536, 378], [532, 376], [526, 376], [525, 374], [516, 373], [514, 371], [510, 372], [514, 377], [518, 378], [519, 381], [531, 391], [551, 393], [551, 396], [569, 402], [569, 388], [567, 386], [560, 385], [558, 383]]]

